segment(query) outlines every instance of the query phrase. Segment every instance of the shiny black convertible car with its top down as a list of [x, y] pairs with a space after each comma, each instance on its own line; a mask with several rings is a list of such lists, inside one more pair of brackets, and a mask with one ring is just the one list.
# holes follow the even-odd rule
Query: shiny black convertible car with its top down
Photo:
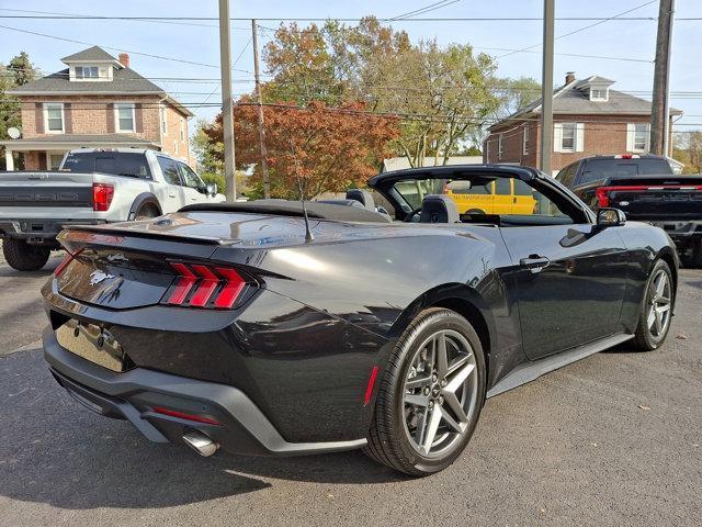
[[[448, 195], [505, 179], [530, 189], [530, 214], [458, 214]], [[64, 231], [43, 290], [53, 375], [203, 456], [364, 448], [422, 475], [456, 459], [486, 397], [665, 340], [678, 260], [661, 229], [596, 216], [523, 167], [369, 186], [393, 220], [354, 190], [308, 203], [308, 229], [302, 204], [268, 200]]]

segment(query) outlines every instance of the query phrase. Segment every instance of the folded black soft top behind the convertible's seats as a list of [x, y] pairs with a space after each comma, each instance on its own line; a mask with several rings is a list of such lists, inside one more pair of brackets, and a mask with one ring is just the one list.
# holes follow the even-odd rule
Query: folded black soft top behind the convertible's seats
[[[307, 215], [318, 220], [337, 222], [388, 223], [389, 217], [377, 212], [342, 204], [305, 202]], [[254, 214], [272, 214], [278, 216], [303, 216], [299, 201], [256, 200], [242, 202], [195, 203], [183, 206], [179, 212], [248, 212]]]

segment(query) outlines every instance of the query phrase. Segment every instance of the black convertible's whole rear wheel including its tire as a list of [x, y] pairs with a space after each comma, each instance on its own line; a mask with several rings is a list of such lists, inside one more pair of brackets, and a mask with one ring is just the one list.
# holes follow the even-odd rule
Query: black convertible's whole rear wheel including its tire
[[[442, 338], [443, 367], [435, 360], [441, 354], [432, 351], [441, 349]], [[483, 347], [471, 323], [451, 310], [422, 311], [389, 357], [365, 453], [412, 476], [445, 469], [471, 440], [485, 402], [485, 383]], [[415, 405], [416, 400], [420, 404]], [[454, 410], [456, 404], [463, 415]]]

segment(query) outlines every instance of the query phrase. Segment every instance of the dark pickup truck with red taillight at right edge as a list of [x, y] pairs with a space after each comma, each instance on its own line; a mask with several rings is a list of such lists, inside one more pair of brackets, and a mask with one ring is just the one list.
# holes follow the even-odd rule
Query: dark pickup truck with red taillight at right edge
[[613, 206], [659, 226], [683, 264], [702, 266], [702, 176], [676, 175], [665, 157], [625, 155], [586, 157], [556, 179], [595, 211]]

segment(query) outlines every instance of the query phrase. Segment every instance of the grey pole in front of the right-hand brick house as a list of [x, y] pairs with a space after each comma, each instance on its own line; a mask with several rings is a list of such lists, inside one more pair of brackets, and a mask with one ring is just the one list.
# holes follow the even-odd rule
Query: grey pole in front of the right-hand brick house
[[544, 0], [544, 42], [541, 75], [541, 170], [551, 176], [553, 152], [553, 41], [554, 3]]

